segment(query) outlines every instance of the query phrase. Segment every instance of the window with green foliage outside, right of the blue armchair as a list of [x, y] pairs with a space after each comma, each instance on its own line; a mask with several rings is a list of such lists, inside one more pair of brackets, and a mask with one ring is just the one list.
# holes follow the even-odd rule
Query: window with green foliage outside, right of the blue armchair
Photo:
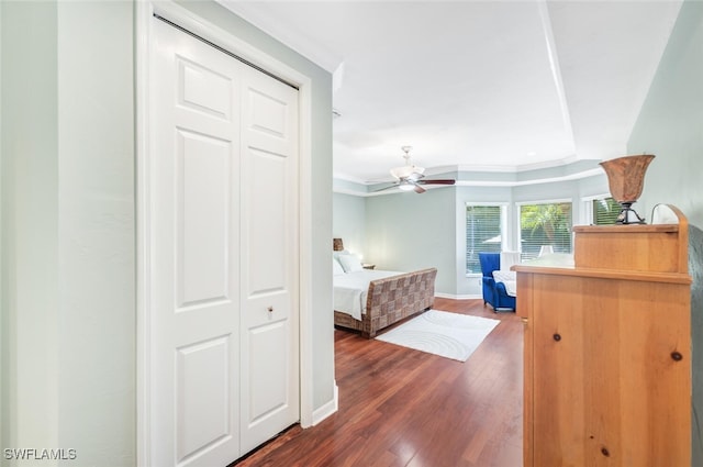
[[571, 202], [520, 207], [521, 260], [539, 256], [543, 246], [554, 253], [571, 253]]

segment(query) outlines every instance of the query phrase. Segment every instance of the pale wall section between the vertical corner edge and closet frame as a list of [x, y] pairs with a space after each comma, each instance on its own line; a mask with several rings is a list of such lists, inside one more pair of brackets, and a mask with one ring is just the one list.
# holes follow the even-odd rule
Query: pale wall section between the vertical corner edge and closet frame
[[44, 234], [58, 247], [57, 447], [126, 465], [136, 424], [133, 8], [57, 4], [58, 230]]

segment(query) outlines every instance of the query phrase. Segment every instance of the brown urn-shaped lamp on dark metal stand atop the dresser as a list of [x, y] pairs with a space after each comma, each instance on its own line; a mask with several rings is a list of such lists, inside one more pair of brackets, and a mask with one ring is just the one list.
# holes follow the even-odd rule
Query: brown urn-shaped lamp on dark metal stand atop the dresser
[[645, 185], [645, 173], [654, 158], [652, 154], [643, 154], [639, 156], [617, 157], [601, 163], [605, 175], [607, 175], [611, 194], [622, 208], [617, 215], [618, 224], [645, 223], [645, 220], [632, 209], [632, 205], [641, 194]]

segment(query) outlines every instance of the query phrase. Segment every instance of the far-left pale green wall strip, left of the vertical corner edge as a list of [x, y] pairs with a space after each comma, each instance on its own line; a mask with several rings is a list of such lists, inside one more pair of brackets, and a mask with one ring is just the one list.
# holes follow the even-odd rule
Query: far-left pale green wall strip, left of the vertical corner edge
[[[58, 410], [58, 11], [52, 3], [0, 2], [0, 16], [1, 445], [54, 447], [47, 421]], [[18, 353], [29, 365], [18, 365]], [[119, 410], [132, 408], [119, 401]], [[114, 434], [122, 438], [123, 431]]]

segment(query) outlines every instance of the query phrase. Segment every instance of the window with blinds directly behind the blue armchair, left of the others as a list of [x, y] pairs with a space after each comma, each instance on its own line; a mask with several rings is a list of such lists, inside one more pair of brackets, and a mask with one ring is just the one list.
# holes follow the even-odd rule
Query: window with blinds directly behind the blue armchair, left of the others
[[504, 205], [466, 207], [466, 273], [481, 274], [479, 253], [500, 252], [505, 225]]

